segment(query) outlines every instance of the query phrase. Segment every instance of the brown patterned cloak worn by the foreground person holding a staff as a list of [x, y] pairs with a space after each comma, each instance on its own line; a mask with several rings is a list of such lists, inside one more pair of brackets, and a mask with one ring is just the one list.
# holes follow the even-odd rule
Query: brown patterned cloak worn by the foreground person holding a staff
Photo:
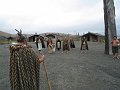
[[39, 90], [38, 56], [30, 46], [10, 46], [11, 90]]

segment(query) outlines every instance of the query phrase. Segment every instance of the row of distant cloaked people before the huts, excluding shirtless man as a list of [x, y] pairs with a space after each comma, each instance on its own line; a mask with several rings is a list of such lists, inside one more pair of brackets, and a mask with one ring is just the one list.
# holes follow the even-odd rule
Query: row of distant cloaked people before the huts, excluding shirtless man
[[[75, 48], [75, 43], [72, 38], [65, 37], [63, 40], [60, 40], [59, 38], [48, 38], [47, 42], [47, 48], [48, 53], [54, 53], [56, 50], [60, 51], [62, 49], [62, 52], [68, 53], [70, 51], [70, 48]], [[45, 42], [43, 38], [40, 38], [38, 36], [36, 38], [36, 46], [38, 48], [39, 52], [42, 52], [42, 49], [45, 48]], [[81, 39], [81, 45], [80, 45], [81, 53], [84, 53], [85, 50], [88, 50], [88, 43], [85, 37]]]

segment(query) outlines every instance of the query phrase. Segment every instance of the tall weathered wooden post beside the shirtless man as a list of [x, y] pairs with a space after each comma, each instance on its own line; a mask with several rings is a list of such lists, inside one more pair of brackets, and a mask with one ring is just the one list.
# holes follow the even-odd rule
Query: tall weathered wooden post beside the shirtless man
[[115, 6], [113, 0], [103, 0], [105, 23], [105, 54], [112, 54], [111, 40], [117, 36], [115, 23]]

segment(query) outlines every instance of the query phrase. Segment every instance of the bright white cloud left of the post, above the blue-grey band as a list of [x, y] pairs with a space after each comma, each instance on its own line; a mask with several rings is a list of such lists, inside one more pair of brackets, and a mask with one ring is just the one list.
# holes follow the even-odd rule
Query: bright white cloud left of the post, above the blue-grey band
[[0, 17], [23, 30], [57, 30], [104, 20], [102, 4], [102, 0], [0, 0]]

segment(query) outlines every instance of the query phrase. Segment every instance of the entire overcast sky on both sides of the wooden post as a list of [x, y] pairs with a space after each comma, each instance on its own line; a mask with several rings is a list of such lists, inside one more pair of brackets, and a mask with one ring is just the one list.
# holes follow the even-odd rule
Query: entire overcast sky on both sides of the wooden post
[[[119, 0], [116, 6], [120, 29]], [[104, 33], [103, 0], [0, 0], [0, 31]]]

